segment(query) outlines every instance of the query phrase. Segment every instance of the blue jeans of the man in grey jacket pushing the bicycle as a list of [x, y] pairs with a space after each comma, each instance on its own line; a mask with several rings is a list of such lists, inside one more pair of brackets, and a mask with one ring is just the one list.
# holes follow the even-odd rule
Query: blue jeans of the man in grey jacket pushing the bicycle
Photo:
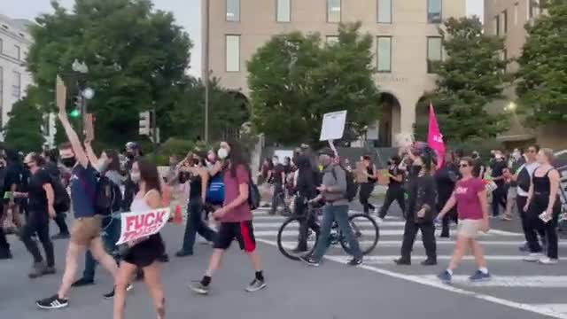
[[342, 232], [343, 236], [346, 237], [346, 241], [348, 241], [348, 245], [353, 251], [353, 257], [356, 259], [362, 259], [361, 247], [358, 245], [358, 240], [354, 237], [351, 225], [348, 223], [347, 205], [325, 205], [322, 208], [321, 233], [319, 234], [317, 245], [315, 245], [313, 259], [315, 261], [321, 261], [322, 256], [327, 251], [327, 248], [329, 248], [330, 227], [335, 221], [337, 221], [338, 229]]

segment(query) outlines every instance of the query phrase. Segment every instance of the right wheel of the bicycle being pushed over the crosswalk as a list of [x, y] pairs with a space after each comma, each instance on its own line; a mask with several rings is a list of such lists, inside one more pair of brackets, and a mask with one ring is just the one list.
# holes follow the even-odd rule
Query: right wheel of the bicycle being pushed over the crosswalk
[[[380, 230], [377, 222], [367, 214], [353, 214], [348, 218], [348, 222], [353, 230], [354, 238], [358, 240], [362, 254], [371, 253], [380, 238]], [[341, 234], [340, 245], [346, 253], [353, 254], [353, 251], [346, 241], [346, 237]]]

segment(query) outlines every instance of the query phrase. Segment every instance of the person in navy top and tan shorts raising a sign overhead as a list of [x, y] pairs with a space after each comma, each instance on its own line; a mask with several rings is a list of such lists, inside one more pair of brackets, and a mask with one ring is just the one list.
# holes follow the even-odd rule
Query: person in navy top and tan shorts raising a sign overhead
[[66, 113], [66, 87], [57, 78], [58, 117], [65, 129], [68, 144], [60, 147], [61, 161], [66, 167], [72, 168], [71, 201], [73, 203], [75, 222], [71, 230], [71, 240], [66, 253], [66, 265], [61, 286], [57, 294], [36, 302], [43, 309], [57, 309], [69, 305], [69, 290], [74, 282], [78, 268], [78, 259], [86, 249], [100, 262], [112, 276], [116, 275], [118, 267], [113, 257], [106, 253], [101, 233], [102, 220], [96, 214], [95, 197], [97, 190], [97, 171], [89, 164], [87, 152], [82, 148], [81, 140], [74, 131]]

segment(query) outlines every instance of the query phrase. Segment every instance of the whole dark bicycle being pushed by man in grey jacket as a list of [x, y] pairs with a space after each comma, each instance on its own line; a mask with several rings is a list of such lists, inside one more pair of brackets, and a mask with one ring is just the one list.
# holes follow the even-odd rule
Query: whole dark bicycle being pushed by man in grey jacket
[[[313, 253], [315, 245], [319, 240], [321, 225], [319, 218], [321, 215], [322, 207], [313, 206], [309, 203], [305, 215], [299, 216], [296, 214], [286, 219], [277, 231], [277, 248], [280, 253], [293, 261], [299, 261], [299, 258]], [[299, 244], [300, 225], [304, 222], [307, 223], [307, 230], [305, 230], [307, 232], [307, 249], [299, 251], [293, 247]], [[362, 254], [367, 255], [371, 253], [378, 244], [380, 237], [377, 222], [368, 214], [351, 214], [348, 217], [348, 222], [353, 229], [354, 237], [359, 241]], [[292, 238], [292, 240], [285, 241], [285, 238]], [[333, 222], [327, 245], [333, 246], [337, 244], [340, 244], [346, 253], [353, 254], [345, 235], [338, 229], [337, 222]]]

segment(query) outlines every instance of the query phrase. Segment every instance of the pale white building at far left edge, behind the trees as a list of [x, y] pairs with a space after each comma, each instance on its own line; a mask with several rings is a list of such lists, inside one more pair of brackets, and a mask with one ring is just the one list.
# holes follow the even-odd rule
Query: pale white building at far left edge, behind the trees
[[[27, 51], [32, 44], [32, 36], [27, 26], [34, 22], [27, 19], [10, 19], [0, 14], [0, 127], [10, 120], [12, 105], [25, 97], [27, 86], [33, 80], [27, 72]], [[55, 136], [55, 117], [45, 116], [44, 136], [52, 144]], [[4, 136], [0, 135], [0, 140]]]

